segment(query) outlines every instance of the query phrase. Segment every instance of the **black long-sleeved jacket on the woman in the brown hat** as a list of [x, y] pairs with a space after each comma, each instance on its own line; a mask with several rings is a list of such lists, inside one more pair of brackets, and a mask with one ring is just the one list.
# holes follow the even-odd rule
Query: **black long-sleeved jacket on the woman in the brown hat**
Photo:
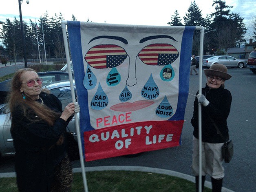
[[[196, 93], [198, 94], [198, 92]], [[210, 89], [207, 85], [202, 88], [202, 94], [210, 102], [206, 107], [202, 105], [202, 141], [208, 143], [223, 143], [223, 139], [216, 131], [209, 115], [212, 117], [223, 137], [228, 138], [227, 117], [230, 113], [232, 96], [229, 90], [220, 87], [218, 89]], [[193, 135], [198, 139], [198, 100], [194, 101], [194, 112], [191, 119], [194, 127]]]

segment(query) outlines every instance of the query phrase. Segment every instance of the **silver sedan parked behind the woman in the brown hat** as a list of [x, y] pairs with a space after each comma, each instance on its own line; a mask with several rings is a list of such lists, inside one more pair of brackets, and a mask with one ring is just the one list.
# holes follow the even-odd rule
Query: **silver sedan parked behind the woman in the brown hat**
[[235, 57], [231, 57], [229, 55], [218, 55], [210, 57], [206, 60], [203, 60], [203, 67], [210, 68], [212, 64], [220, 63], [225, 65], [226, 67], [238, 67], [243, 68], [245, 66], [245, 60], [238, 60]]

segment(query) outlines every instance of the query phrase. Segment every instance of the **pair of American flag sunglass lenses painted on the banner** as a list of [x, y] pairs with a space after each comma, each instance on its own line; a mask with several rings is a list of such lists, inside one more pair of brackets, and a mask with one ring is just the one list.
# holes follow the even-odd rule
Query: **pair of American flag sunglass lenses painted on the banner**
[[[92, 47], [84, 59], [93, 68], [113, 68], [126, 60], [128, 54], [118, 45], [106, 44]], [[168, 65], [179, 57], [179, 52], [171, 44], [150, 44], [138, 54], [147, 65]]]

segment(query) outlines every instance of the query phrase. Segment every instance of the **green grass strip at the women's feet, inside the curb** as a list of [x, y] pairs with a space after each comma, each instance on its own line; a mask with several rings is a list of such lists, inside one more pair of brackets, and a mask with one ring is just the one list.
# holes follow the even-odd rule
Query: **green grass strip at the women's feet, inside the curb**
[[[194, 192], [195, 184], [165, 174], [140, 171], [86, 172], [89, 192]], [[0, 192], [18, 192], [15, 178], [0, 178]], [[81, 173], [74, 174], [72, 192], [84, 192]], [[205, 188], [204, 192], [211, 192]]]

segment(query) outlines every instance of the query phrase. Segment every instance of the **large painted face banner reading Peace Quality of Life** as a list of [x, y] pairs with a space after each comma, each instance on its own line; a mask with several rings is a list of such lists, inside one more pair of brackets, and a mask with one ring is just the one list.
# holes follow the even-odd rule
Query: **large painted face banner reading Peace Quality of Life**
[[67, 26], [85, 160], [179, 146], [195, 27]]

